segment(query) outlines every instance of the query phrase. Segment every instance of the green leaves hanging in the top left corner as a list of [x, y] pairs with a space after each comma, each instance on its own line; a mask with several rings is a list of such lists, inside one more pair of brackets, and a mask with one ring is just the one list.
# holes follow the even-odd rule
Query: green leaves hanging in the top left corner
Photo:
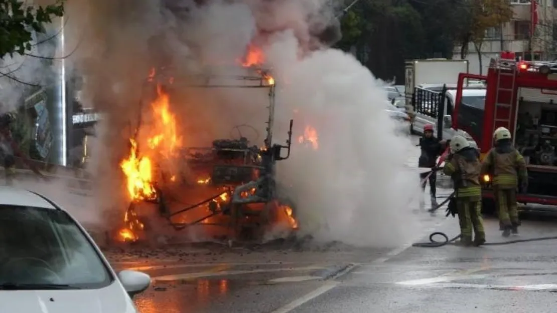
[[61, 17], [63, 1], [31, 7], [21, 0], [0, 0], [0, 58], [31, 49], [32, 32], [44, 33], [46, 23], [52, 23], [53, 17]]

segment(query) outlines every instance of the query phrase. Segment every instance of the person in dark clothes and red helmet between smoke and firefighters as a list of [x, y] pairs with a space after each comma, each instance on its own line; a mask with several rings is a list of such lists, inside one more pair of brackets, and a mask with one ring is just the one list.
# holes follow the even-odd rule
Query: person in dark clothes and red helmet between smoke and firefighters
[[[436, 161], [442, 150], [442, 142], [437, 138], [433, 137], [433, 125], [426, 125], [423, 127], [423, 137], [420, 138], [418, 146], [421, 148], [421, 153], [418, 160], [418, 167], [427, 167], [434, 170], [436, 167]], [[429, 176], [429, 177], [428, 177]], [[420, 173], [420, 181], [422, 182], [422, 192], [426, 191], [426, 178], [429, 180], [429, 196], [431, 197], [432, 209], [437, 207], [437, 197], [436, 197], [436, 182], [437, 182], [437, 172], [425, 172]], [[423, 197], [420, 200], [420, 207], [423, 208], [424, 202]]]

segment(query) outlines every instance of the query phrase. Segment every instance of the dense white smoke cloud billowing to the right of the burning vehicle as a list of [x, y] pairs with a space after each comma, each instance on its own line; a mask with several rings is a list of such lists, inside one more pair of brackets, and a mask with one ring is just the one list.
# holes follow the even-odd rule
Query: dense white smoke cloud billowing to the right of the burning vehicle
[[287, 77], [278, 93], [281, 124], [297, 111], [295, 133], [311, 125], [319, 136], [317, 150], [294, 145], [278, 172], [296, 192], [305, 231], [353, 245], [390, 246], [409, 239], [416, 229], [408, 214], [416, 177], [403, 163], [411, 143], [396, 135], [396, 122], [384, 111], [382, 83], [337, 49], [299, 61], [296, 51], [294, 36], [286, 32], [268, 55], [278, 76]]

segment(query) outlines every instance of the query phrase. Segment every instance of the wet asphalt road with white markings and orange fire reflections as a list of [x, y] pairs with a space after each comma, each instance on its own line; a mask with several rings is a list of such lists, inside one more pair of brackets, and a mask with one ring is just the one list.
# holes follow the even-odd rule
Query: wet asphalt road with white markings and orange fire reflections
[[[408, 166], [416, 166], [413, 160]], [[449, 193], [441, 189], [438, 196]], [[411, 211], [424, 227], [417, 241], [427, 241], [434, 230], [458, 233], [454, 218], [431, 216], [417, 206]], [[485, 226], [488, 242], [505, 240], [496, 220], [486, 220]], [[557, 236], [557, 222], [527, 220], [520, 231], [520, 239]], [[153, 277], [153, 285], [134, 299], [141, 313], [552, 313], [556, 245], [551, 240], [479, 248], [313, 251], [288, 245], [201, 245], [107, 255], [117, 270]]]

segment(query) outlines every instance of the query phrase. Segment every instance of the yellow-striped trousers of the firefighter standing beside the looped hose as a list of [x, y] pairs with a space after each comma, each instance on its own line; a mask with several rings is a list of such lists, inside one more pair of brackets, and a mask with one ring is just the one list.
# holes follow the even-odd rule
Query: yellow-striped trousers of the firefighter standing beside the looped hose
[[483, 219], [481, 215], [481, 200], [477, 197], [456, 198], [458, 210], [458, 223], [463, 242], [472, 241], [472, 231], [475, 241], [485, 240], [486, 233], [483, 229]]

